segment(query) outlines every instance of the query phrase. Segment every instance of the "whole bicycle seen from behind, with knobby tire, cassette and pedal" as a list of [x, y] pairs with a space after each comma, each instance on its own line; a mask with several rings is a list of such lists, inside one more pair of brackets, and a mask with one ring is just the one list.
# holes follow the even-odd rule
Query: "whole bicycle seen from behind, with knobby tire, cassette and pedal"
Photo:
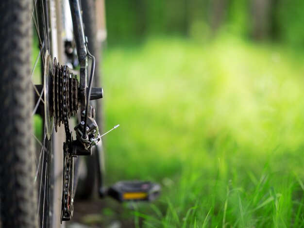
[[[0, 3], [3, 227], [59, 227], [72, 217], [78, 158], [91, 155], [92, 147], [100, 143], [102, 136], [98, 100], [103, 97], [103, 90], [93, 87], [99, 86], [100, 80], [95, 71], [98, 48], [94, 48], [94, 4], [93, 0]], [[32, 30], [39, 46], [34, 65]], [[36, 77], [39, 74], [41, 77]], [[97, 118], [90, 100], [96, 101]], [[96, 154], [100, 156], [100, 151]], [[160, 187], [152, 182], [103, 186], [101, 162], [97, 161], [101, 196], [127, 201], [152, 200], [158, 195]]]

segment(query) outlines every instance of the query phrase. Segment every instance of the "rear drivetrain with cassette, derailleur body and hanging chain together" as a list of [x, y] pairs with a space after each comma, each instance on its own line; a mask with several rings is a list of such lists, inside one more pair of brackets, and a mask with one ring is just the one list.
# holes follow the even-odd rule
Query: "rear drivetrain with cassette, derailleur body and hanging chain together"
[[[48, 51], [45, 55], [44, 65], [44, 85], [36, 85], [41, 96], [44, 95], [44, 110], [46, 119], [46, 131], [48, 139], [51, 138], [53, 126], [55, 131], [58, 126], [64, 125], [66, 142], [63, 145], [64, 169], [63, 169], [63, 192], [62, 192], [62, 210], [61, 221], [68, 221], [73, 214], [74, 197], [74, 157], [79, 155], [91, 155], [92, 147], [101, 141], [99, 129], [94, 120], [95, 110], [92, 106], [87, 106], [87, 114], [84, 107], [81, 106], [81, 100], [84, 100], [84, 92], [80, 91], [79, 82], [76, 76], [70, 72], [67, 65], [60, 65], [56, 58], [52, 59]], [[99, 99], [103, 96], [102, 88], [91, 88], [91, 93], [86, 93], [86, 103], [89, 100]], [[42, 102], [41, 102], [42, 103]], [[81, 122], [74, 128], [76, 139], [69, 129], [69, 118], [76, 114], [79, 107], [82, 107], [80, 116]], [[41, 108], [43, 109], [43, 108]]]

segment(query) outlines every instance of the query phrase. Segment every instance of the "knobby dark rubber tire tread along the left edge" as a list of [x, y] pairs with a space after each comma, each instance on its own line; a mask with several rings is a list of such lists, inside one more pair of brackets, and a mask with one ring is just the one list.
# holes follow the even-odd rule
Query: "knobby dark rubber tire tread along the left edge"
[[32, 0], [0, 2], [0, 204], [4, 228], [37, 227], [32, 142]]

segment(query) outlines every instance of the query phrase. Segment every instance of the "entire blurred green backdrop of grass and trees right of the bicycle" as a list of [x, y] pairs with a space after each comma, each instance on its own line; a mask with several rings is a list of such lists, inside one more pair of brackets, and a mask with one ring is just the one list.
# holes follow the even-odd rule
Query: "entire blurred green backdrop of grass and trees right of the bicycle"
[[105, 183], [152, 180], [162, 194], [152, 204], [79, 200], [73, 219], [303, 227], [303, 9], [303, 0], [105, 1], [104, 129], [120, 124], [103, 140]]

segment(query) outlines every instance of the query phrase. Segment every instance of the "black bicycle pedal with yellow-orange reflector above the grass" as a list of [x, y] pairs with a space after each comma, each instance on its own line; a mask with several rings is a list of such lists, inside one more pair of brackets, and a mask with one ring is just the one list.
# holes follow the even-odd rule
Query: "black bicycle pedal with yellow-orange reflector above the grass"
[[150, 181], [119, 181], [108, 189], [107, 195], [119, 202], [152, 201], [160, 193], [160, 185]]

